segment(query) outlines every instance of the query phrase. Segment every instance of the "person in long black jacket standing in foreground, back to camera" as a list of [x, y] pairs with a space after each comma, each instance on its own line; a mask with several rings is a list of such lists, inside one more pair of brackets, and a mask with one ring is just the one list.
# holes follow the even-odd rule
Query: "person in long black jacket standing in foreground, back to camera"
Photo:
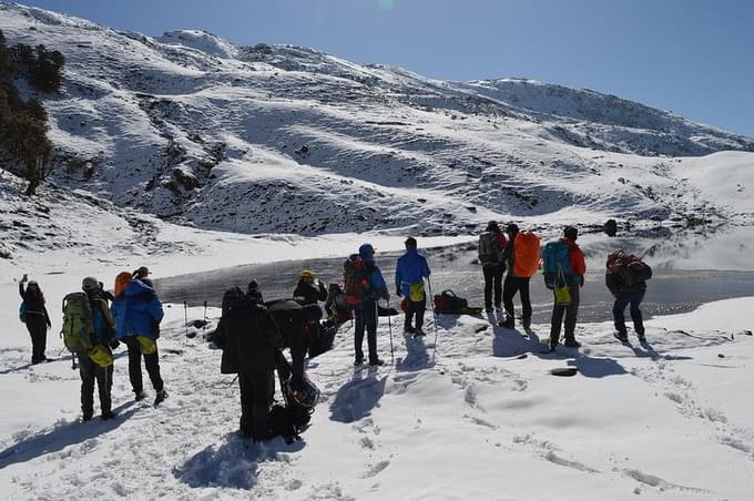
[[235, 299], [223, 305], [214, 342], [223, 349], [221, 372], [238, 375], [241, 433], [264, 440], [273, 437], [269, 406], [275, 393], [275, 352], [283, 339], [267, 308], [236, 289]]

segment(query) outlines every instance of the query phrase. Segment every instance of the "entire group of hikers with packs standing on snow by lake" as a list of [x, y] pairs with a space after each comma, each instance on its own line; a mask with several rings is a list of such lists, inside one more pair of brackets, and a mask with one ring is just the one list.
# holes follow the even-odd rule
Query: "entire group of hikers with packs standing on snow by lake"
[[[485, 309], [492, 316], [500, 314], [498, 324], [505, 328], [516, 325], [513, 298], [518, 294], [522, 306], [521, 325], [531, 326], [532, 307], [530, 279], [541, 269], [544, 284], [553, 290], [549, 350], [560, 342], [564, 320], [564, 346], [578, 348], [574, 330], [579, 309], [580, 288], [587, 273], [584, 254], [577, 244], [578, 231], [567, 226], [562, 236], [540, 249], [540, 238], [533, 232], [519, 231], [511, 223], [505, 232], [490, 222], [479, 236], [478, 258], [485, 278]], [[431, 272], [427, 258], [418, 253], [417, 241], [405, 241], [406, 252], [396, 263], [395, 292], [403, 297], [404, 334], [415, 338], [425, 336], [424, 316]], [[503, 275], [506, 274], [503, 280]], [[640, 305], [646, 289], [651, 268], [641, 259], [623, 250], [608, 257], [605, 284], [614, 295], [613, 318], [615, 337], [628, 341], [624, 309], [630, 313], [639, 340], [644, 342], [644, 327]], [[21, 317], [32, 339], [32, 364], [44, 361], [45, 333], [51, 327], [44, 296], [34, 282], [24, 275], [19, 285], [23, 303]], [[129, 376], [134, 400], [145, 398], [142, 385], [141, 358], [155, 390], [154, 405], [166, 397], [160, 376], [156, 340], [163, 309], [149, 269], [121, 273], [115, 278], [114, 294], [104, 290], [94, 277], [82, 282], [83, 293], [72, 293], [63, 299], [64, 345], [79, 359], [81, 375], [81, 407], [83, 420], [92, 417], [94, 381], [99, 387], [102, 419], [111, 419], [111, 387], [113, 375], [112, 349], [125, 342], [129, 354]], [[447, 292], [444, 292], [445, 295]], [[365, 243], [358, 253], [344, 263], [343, 287], [338, 283], [326, 286], [316, 274], [305, 269], [292, 297], [265, 301], [262, 290], [252, 280], [246, 290], [232, 287], [222, 300], [222, 315], [207, 340], [223, 350], [221, 372], [237, 375], [241, 393], [240, 431], [244, 437], [265, 440], [283, 436], [294, 440], [308, 423], [318, 399], [316, 386], [308, 380], [305, 364], [332, 348], [343, 324], [354, 323], [354, 365], [365, 360], [378, 367], [385, 362], [377, 354], [379, 316], [398, 311], [389, 307], [388, 286], [380, 267], [375, 263], [375, 248]], [[459, 313], [441, 307], [435, 296], [436, 313]], [[387, 307], [379, 304], [383, 299]], [[324, 301], [327, 317], [323, 319], [319, 303]], [[466, 301], [463, 300], [463, 305]], [[505, 318], [502, 317], [505, 308]], [[472, 309], [473, 310], [473, 309]], [[478, 309], [481, 311], [481, 308]], [[367, 357], [364, 337], [367, 337]], [[289, 349], [291, 361], [283, 350]], [[275, 371], [281, 382], [284, 405], [274, 403]]]

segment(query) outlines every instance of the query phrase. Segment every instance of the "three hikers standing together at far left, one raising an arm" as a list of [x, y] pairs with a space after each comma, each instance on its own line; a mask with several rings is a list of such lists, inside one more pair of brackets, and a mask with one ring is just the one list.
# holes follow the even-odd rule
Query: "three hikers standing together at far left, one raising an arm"
[[[104, 289], [95, 277], [85, 277], [81, 292], [63, 298], [63, 345], [73, 354], [73, 365], [81, 377], [82, 419], [94, 413], [94, 385], [100, 396], [103, 420], [112, 419], [113, 354], [121, 342], [128, 347], [129, 379], [134, 400], [146, 398], [142, 384], [141, 360], [155, 391], [154, 405], [160, 405], [167, 392], [160, 375], [157, 338], [163, 317], [162, 303], [142, 266], [136, 272], [123, 272], [115, 277], [114, 293]], [[26, 289], [24, 289], [26, 284]], [[39, 284], [24, 274], [19, 282], [22, 303], [20, 318], [27, 325], [32, 345], [32, 364], [47, 361], [44, 355], [47, 330], [52, 327], [44, 294]]]

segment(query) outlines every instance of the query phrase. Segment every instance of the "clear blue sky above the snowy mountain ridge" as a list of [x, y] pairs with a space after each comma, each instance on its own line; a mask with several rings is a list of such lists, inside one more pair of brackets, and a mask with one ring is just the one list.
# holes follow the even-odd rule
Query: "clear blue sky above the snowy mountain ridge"
[[[427, 76], [588, 88], [754, 136], [748, 0], [27, 0], [116, 29], [204, 29]], [[1, 23], [0, 23], [1, 24]]]

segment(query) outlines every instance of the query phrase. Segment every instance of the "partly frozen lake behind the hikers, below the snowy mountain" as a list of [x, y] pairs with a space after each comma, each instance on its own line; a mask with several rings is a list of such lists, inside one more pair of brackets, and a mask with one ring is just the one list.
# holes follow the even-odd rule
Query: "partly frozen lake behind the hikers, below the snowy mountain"
[[[542, 241], [552, 235], [544, 235]], [[642, 256], [653, 268], [653, 278], [642, 309], [651, 315], [675, 314], [694, 309], [702, 303], [754, 295], [754, 228], [732, 227], [706, 232], [672, 234], [656, 228], [641, 234], [608, 237], [604, 234], [583, 235], [579, 238], [587, 255], [587, 283], [582, 289], [579, 318], [583, 321], [612, 319], [612, 296], [604, 286], [604, 263], [608, 254], [624, 248]], [[444, 248], [419, 249], [429, 259], [432, 269], [431, 288], [435, 294], [452, 289], [469, 299], [472, 306], [482, 306], [483, 279], [481, 267], [475, 264], [476, 244]], [[356, 250], [356, 249], [355, 249]], [[395, 294], [395, 265], [401, 253], [379, 253], [376, 260]], [[252, 279], [259, 283], [265, 299], [291, 297], [302, 269], [315, 270], [318, 278], [329, 283], [343, 280], [343, 262], [346, 256], [286, 260], [271, 264], [249, 264], [213, 272], [155, 279], [160, 297], [169, 303], [220, 306], [223, 292], [238, 285], [242, 288]], [[531, 280], [534, 321], [548, 321], [552, 308], [552, 294], [544, 288], [541, 274]], [[397, 298], [393, 296], [391, 300]], [[517, 311], [520, 303], [516, 301]]]

